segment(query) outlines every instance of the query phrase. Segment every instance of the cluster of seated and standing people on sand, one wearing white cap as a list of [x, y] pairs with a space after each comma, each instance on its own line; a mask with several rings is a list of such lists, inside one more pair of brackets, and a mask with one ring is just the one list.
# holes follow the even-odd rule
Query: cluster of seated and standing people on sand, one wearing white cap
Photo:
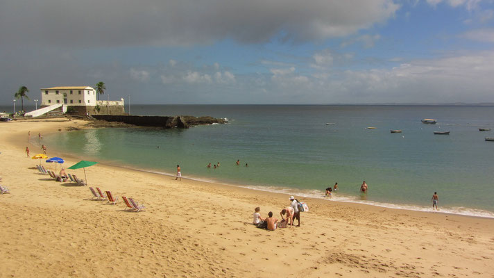
[[273, 212], [268, 213], [267, 218], [261, 217], [261, 208], [257, 206], [254, 209], [253, 224], [257, 228], [267, 229], [269, 231], [274, 231], [277, 228], [287, 228], [293, 227], [293, 222], [297, 220], [297, 227], [300, 227], [300, 208], [298, 208], [298, 200], [295, 197], [290, 196], [289, 206], [283, 208], [280, 211], [281, 220], [273, 217]]

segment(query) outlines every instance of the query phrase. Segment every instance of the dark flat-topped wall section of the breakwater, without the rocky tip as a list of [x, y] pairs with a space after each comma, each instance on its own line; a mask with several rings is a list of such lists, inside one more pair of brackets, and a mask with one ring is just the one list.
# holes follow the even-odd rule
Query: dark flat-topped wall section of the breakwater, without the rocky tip
[[187, 129], [188, 124], [178, 116], [138, 116], [138, 115], [92, 115], [96, 120], [107, 122], [124, 122], [136, 126], [157, 126], [165, 129], [179, 127]]

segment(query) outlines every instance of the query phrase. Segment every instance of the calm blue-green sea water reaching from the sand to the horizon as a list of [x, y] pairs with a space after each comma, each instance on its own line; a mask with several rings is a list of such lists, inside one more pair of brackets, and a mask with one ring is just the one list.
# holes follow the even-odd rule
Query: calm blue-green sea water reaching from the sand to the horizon
[[[442, 211], [494, 216], [494, 142], [484, 140], [494, 133], [478, 131], [494, 129], [492, 106], [131, 109], [138, 115], [212, 115], [230, 122], [191, 129], [73, 131], [44, 140], [51, 148], [112, 164], [172, 174], [180, 164], [184, 177], [303, 196], [323, 197], [324, 188], [338, 182], [333, 199], [346, 202], [430, 210], [437, 191]], [[425, 117], [438, 124], [422, 124]], [[217, 162], [220, 167], [207, 169], [207, 163]], [[364, 180], [369, 192], [360, 195]]]

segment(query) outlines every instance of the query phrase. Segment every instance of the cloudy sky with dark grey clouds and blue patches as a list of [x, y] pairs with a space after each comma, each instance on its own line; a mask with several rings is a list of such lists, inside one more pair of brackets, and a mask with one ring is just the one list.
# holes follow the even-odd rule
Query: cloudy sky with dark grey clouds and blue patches
[[133, 104], [493, 103], [494, 0], [0, 0], [0, 104], [99, 81]]

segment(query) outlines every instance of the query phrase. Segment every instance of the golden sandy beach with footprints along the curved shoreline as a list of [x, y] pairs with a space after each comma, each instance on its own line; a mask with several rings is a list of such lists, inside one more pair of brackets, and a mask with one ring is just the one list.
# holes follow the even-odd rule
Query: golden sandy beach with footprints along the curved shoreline
[[[65, 118], [0, 123], [0, 277], [494, 277], [494, 220], [305, 198], [301, 227], [250, 224], [289, 205], [289, 195], [99, 163], [87, 186], [40, 174], [37, 133], [70, 132]], [[28, 142], [31, 131], [31, 142]], [[80, 161], [46, 146], [48, 156]], [[43, 163], [55, 170], [55, 165]], [[60, 166], [58, 166], [60, 170]], [[84, 177], [80, 170], [67, 170]], [[146, 206], [134, 213], [121, 196]]]

